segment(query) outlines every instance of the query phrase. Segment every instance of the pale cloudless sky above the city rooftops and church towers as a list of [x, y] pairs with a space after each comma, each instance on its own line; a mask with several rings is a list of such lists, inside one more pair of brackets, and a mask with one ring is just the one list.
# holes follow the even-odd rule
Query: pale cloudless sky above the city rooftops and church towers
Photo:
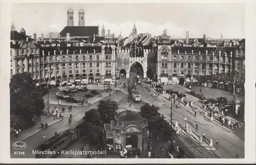
[[67, 10], [74, 10], [74, 25], [78, 25], [78, 10], [85, 13], [86, 25], [99, 25], [100, 34], [104, 24], [105, 34], [110, 30], [116, 36], [130, 35], [134, 23], [137, 34], [163, 34], [171, 38], [207, 37], [219, 39], [245, 38], [244, 4], [54, 4], [54, 3], [15, 3], [11, 8], [11, 21], [16, 31], [22, 28], [26, 34], [38, 37], [50, 32], [60, 32], [67, 25]]

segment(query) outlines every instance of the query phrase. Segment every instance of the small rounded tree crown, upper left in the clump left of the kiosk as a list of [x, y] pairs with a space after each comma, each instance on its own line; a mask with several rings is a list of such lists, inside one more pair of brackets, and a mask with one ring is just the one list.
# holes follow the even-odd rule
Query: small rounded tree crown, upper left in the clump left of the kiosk
[[94, 125], [97, 125], [97, 126], [102, 125], [100, 114], [97, 111], [97, 109], [90, 109], [89, 111], [87, 111], [84, 114], [83, 120], [84, 120], [84, 122], [90, 122], [90, 123], [92, 123]]

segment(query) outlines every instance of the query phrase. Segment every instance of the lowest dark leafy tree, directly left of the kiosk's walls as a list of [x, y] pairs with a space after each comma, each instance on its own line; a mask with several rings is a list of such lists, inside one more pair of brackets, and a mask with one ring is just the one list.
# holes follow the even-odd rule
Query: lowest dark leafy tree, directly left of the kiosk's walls
[[90, 150], [92, 150], [92, 146], [94, 145], [102, 145], [103, 128], [90, 122], [84, 122], [79, 125], [78, 129], [80, 130], [81, 136], [84, 136], [84, 139], [89, 143]]

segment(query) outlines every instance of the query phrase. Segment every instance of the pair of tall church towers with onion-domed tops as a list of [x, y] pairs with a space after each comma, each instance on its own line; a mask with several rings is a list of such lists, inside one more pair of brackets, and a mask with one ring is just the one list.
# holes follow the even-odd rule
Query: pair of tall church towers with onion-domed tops
[[[68, 26], [74, 26], [74, 10], [69, 8], [67, 11], [68, 14]], [[84, 10], [79, 9], [78, 10], [78, 26], [84, 26]]]

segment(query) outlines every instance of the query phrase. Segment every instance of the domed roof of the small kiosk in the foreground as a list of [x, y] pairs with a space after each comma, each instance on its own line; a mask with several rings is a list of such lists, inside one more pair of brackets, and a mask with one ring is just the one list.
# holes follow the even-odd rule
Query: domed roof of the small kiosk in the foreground
[[116, 116], [116, 121], [125, 123], [125, 122], [140, 122], [144, 120], [139, 114], [131, 110], [125, 110], [118, 113]]

